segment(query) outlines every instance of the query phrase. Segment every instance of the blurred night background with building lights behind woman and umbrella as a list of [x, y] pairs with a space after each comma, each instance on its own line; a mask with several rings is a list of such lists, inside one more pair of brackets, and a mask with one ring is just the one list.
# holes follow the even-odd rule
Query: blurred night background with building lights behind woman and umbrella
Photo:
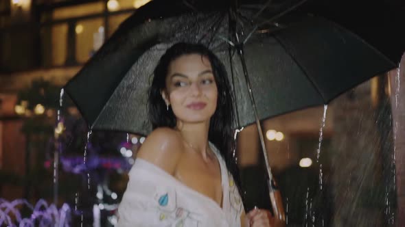
[[[71, 226], [117, 222], [145, 138], [107, 131], [89, 137], [61, 88], [148, 1], [0, 0], [2, 213], [15, 220], [11, 210], [27, 216], [27, 204], [45, 201], [57, 210], [67, 204]], [[405, 226], [405, 90], [397, 86], [404, 87], [404, 77], [403, 70], [375, 75], [327, 109], [262, 122], [287, 226]], [[246, 206], [270, 208], [260, 152], [257, 129], [245, 127], [238, 165]]]

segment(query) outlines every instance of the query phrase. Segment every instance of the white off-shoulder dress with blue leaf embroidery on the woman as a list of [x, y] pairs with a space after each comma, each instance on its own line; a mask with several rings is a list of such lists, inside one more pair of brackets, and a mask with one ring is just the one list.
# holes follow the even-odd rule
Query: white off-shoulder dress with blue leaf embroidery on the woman
[[210, 146], [220, 163], [222, 208], [156, 165], [136, 159], [119, 204], [117, 226], [239, 227], [242, 199], [224, 159]]

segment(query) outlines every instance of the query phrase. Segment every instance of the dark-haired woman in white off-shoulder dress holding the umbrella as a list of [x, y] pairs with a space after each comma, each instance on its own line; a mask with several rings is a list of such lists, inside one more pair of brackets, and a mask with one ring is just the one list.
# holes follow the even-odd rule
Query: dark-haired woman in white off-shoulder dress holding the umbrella
[[268, 211], [244, 213], [233, 99], [218, 57], [201, 44], [167, 49], [154, 70], [149, 114], [154, 130], [130, 170], [118, 226], [271, 226]]

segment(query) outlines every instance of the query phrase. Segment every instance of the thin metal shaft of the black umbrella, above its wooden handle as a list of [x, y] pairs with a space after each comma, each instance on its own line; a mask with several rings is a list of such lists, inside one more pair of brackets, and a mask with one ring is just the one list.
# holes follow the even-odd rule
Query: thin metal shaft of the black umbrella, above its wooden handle
[[[263, 136], [262, 126], [260, 124], [259, 115], [257, 114], [255, 97], [253, 96], [252, 85], [251, 85], [251, 81], [249, 80], [248, 70], [247, 70], [247, 67], [246, 67], [246, 62], [244, 60], [244, 53], [243, 53], [242, 45], [238, 46], [238, 55], [240, 57], [240, 61], [242, 62], [244, 79], [246, 80], [246, 85], [248, 86], [249, 97], [251, 98], [251, 103], [252, 103], [252, 107], [253, 107], [253, 113], [255, 114], [257, 132], [259, 133], [260, 144], [262, 146], [262, 152], [263, 152], [263, 156], [264, 156], [264, 162], [266, 163], [265, 165], [266, 165], [266, 170], [267, 170], [267, 174], [268, 174], [268, 180], [273, 181], [273, 174], [271, 173], [270, 164], [268, 162], [268, 155], [267, 155], [266, 145], [264, 144], [264, 136]], [[273, 187], [269, 187], [269, 190], [272, 190], [272, 189], [273, 189]]]

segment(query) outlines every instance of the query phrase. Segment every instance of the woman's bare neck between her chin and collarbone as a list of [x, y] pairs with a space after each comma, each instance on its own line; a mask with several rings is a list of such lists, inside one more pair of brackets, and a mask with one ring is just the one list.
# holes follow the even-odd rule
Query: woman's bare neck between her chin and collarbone
[[207, 158], [209, 121], [200, 123], [185, 123], [178, 121], [176, 129], [181, 133], [184, 142], [203, 158]]

